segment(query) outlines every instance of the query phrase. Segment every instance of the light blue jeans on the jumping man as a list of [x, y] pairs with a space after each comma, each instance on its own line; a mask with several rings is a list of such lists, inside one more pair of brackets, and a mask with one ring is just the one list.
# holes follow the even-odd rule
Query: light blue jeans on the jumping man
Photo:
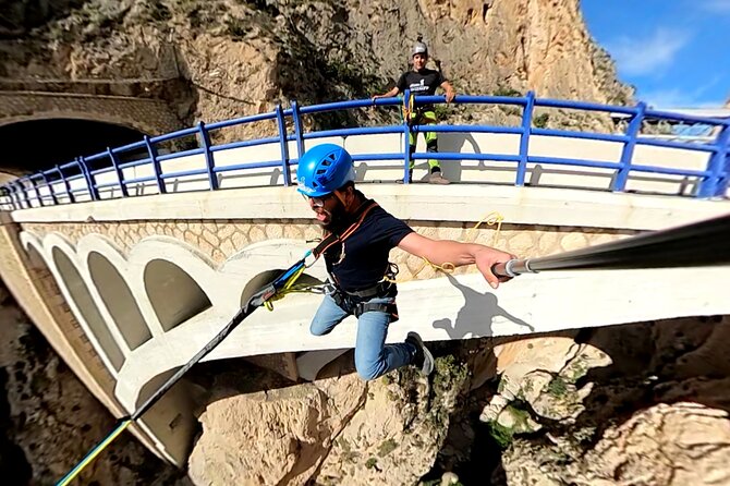
[[[390, 304], [394, 297], [375, 297], [367, 302]], [[334, 303], [331, 295], [325, 295], [309, 331], [315, 336], [329, 333], [334, 326], [351, 315]], [[415, 347], [409, 343], [386, 345], [390, 316], [385, 312], [370, 311], [357, 319], [357, 340], [355, 341], [355, 368], [365, 380], [375, 379], [386, 373], [405, 366], [413, 361]]]

